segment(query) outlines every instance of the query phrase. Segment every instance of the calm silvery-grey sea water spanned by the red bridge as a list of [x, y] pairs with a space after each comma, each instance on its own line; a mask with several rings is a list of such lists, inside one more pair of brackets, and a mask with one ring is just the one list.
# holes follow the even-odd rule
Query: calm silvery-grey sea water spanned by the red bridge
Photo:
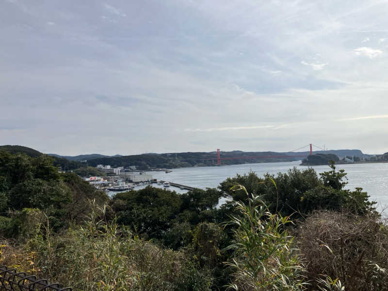
[[[174, 169], [173, 172], [168, 174], [157, 171], [150, 171], [147, 174], [151, 174], [153, 178], [206, 189], [207, 187], [217, 187], [220, 182], [228, 177], [248, 173], [249, 171], [254, 171], [257, 175], [263, 176], [267, 172], [271, 174], [287, 172], [292, 167], [298, 169], [307, 168], [299, 164], [300, 161], [253, 163], [221, 167], [191, 167]], [[328, 166], [313, 166], [313, 168], [317, 173], [329, 170]], [[388, 206], [388, 163], [344, 164], [337, 165], [337, 169], [344, 169], [348, 174], [347, 189], [353, 190], [355, 187], [362, 187], [371, 196], [371, 200], [377, 201], [380, 204], [379, 209], [383, 206]], [[153, 186], [156, 186], [156, 184], [153, 184]], [[144, 187], [139, 186], [136, 189]], [[186, 192], [175, 187], [170, 187], [170, 189], [178, 193]]]

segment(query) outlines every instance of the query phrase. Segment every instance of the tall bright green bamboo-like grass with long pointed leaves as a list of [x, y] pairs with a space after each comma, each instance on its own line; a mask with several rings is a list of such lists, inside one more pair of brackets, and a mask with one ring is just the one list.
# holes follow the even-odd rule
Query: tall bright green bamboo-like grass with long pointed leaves
[[226, 226], [235, 226], [234, 242], [226, 250], [234, 251], [234, 258], [226, 264], [234, 272], [230, 289], [246, 291], [303, 290], [304, 266], [293, 248], [293, 238], [285, 226], [289, 217], [271, 214], [259, 196], [249, 195], [245, 187], [237, 185], [233, 190], [243, 190], [248, 205], [236, 202], [239, 216], [231, 216]]

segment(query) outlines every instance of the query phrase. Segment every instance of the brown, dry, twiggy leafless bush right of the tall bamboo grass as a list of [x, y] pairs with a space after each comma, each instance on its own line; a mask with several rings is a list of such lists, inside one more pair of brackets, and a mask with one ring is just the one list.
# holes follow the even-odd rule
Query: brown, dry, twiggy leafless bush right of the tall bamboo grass
[[346, 291], [388, 290], [388, 226], [376, 217], [315, 211], [296, 241], [311, 290], [319, 274], [339, 278]]

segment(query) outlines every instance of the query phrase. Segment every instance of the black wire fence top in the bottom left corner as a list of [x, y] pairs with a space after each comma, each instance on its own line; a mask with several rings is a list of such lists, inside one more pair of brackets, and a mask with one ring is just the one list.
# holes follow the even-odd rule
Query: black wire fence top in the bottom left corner
[[25, 272], [17, 272], [6, 266], [0, 266], [0, 291], [72, 291], [71, 288], [63, 288], [60, 284], [50, 284], [47, 279], [37, 279]]

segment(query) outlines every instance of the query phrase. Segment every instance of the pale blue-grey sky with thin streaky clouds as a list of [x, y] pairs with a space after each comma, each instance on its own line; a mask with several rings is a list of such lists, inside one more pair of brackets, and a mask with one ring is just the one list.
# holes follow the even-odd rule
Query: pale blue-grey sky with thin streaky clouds
[[0, 0], [0, 144], [388, 152], [388, 1]]

